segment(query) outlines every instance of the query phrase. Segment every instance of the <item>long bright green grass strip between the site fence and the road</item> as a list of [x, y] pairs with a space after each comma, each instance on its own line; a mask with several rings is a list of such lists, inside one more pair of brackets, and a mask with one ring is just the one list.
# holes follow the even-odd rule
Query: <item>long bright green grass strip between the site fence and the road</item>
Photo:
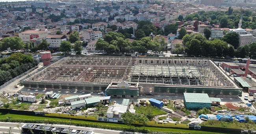
[[[51, 120], [57, 120], [57, 121], [70, 121], [69, 119], [60, 119], [60, 118], [54, 118], [54, 117], [46, 117], [46, 116], [26, 116], [26, 115], [18, 115], [18, 114], [8, 114], [8, 113], [1, 113], [0, 112], [0, 118], [6, 119], [7, 117], [12, 119], [51, 119]], [[76, 120], [72, 119], [72, 123], [78, 123], [78, 122], [87, 122], [87, 123], [95, 123], [95, 124], [103, 124], [103, 125], [111, 125], [111, 126], [119, 126], [119, 127], [130, 127], [128, 125], [122, 124], [122, 123], [107, 123], [107, 122], [98, 122], [98, 121], [87, 121], [87, 120]], [[143, 129], [143, 126], [132, 126], [132, 128], [140, 128]], [[205, 131], [198, 131], [198, 130], [189, 130], [189, 129], [179, 129], [179, 128], [160, 128], [160, 127], [145, 127], [145, 129], [151, 130], [151, 131], [157, 131], [157, 132], [187, 132], [191, 134], [225, 134], [225, 133], [217, 133], [217, 132], [205, 132]], [[229, 133], [226, 133], [229, 134]]]

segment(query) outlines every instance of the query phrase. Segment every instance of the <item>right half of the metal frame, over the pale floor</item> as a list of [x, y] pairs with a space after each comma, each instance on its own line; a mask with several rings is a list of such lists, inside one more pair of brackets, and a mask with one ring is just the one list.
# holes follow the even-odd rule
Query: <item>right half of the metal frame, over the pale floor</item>
[[137, 58], [131, 73], [131, 82], [234, 86], [210, 60], [206, 59]]

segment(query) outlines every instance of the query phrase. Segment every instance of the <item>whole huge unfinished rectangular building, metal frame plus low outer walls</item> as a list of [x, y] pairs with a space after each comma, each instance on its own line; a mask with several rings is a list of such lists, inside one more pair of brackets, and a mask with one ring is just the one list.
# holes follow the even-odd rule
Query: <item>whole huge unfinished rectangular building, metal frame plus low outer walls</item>
[[[125, 81], [124, 85], [118, 86], [121, 81]], [[108, 95], [128, 98], [139, 94], [184, 92], [209, 95], [242, 93], [242, 89], [211, 60], [165, 57], [65, 57], [21, 84], [26, 89], [56, 92], [105, 92], [109, 85], [117, 85], [116, 88], [111, 86], [109, 90], [115, 92]], [[139, 94], [126, 95], [129, 88]]]

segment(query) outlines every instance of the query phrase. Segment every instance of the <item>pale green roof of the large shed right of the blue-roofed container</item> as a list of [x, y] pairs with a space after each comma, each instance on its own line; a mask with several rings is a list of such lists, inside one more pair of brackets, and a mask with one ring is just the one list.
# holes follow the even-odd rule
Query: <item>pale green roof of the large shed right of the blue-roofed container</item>
[[183, 93], [186, 102], [191, 103], [211, 103], [211, 99], [208, 94], [200, 93]]

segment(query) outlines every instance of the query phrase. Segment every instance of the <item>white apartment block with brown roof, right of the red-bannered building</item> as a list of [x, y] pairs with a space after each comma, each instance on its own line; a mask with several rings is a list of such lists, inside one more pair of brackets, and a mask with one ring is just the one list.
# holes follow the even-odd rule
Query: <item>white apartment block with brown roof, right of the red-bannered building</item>
[[67, 41], [66, 35], [48, 35], [46, 36], [47, 43], [50, 44], [49, 47], [59, 48], [61, 41]]

